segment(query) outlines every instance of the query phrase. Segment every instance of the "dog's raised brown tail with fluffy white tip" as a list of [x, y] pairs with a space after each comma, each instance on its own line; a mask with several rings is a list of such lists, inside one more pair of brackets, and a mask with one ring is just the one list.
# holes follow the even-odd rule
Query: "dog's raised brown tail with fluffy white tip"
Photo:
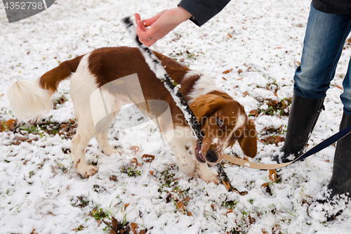
[[61, 63], [33, 82], [20, 80], [8, 88], [7, 96], [18, 121], [37, 121], [53, 108], [51, 95], [58, 89], [58, 84], [77, 70], [83, 56]]

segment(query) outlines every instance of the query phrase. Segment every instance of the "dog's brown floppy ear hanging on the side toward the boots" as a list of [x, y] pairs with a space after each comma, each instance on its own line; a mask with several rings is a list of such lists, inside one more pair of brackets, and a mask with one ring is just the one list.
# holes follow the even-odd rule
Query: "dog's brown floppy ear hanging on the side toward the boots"
[[249, 119], [244, 134], [239, 137], [238, 142], [241, 150], [246, 156], [255, 157], [257, 154], [257, 136], [255, 124], [252, 119]]

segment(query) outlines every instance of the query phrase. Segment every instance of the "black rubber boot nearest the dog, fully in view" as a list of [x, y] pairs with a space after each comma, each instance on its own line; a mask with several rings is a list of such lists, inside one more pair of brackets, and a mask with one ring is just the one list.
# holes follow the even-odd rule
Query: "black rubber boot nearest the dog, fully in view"
[[291, 162], [303, 154], [303, 148], [316, 125], [319, 113], [324, 109], [323, 102], [324, 98], [307, 99], [293, 93], [285, 143], [280, 150], [284, 155], [274, 157], [274, 161]]

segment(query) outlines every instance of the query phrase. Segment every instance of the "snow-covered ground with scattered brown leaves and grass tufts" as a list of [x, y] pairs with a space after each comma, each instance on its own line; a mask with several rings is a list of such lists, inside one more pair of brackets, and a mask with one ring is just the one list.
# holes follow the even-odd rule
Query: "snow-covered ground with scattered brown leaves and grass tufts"
[[[40, 126], [11, 126], [10, 84], [36, 79], [94, 48], [134, 46], [121, 18], [135, 12], [148, 18], [178, 1], [57, 0], [11, 24], [0, 4], [0, 120], [9, 124], [0, 132], [0, 233], [347, 233], [351, 204], [329, 222], [320, 207], [312, 209], [330, 180], [334, 145], [277, 171], [277, 180], [270, 171], [225, 164], [232, 186], [248, 191], [241, 196], [183, 174], [157, 127], [138, 124], [142, 115], [134, 109], [117, 118], [110, 142], [124, 149], [136, 145], [154, 160], [133, 160], [133, 150], [107, 157], [92, 139], [86, 157], [100, 170], [78, 176], [69, 155], [75, 129], [69, 80], [60, 84], [53, 96], [58, 105]], [[156, 51], [210, 74], [248, 114], [260, 112], [251, 117], [260, 139], [254, 162], [272, 163], [282, 147], [271, 141], [284, 137], [287, 116], [268, 110], [293, 94], [309, 9], [308, 0], [231, 1], [203, 27], [185, 22], [157, 43]], [[350, 47], [347, 42], [309, 148], [338, 131]], [[239, 145], [227, 149], [233, 152], [244, 157]], [[128, 224], [117, 228], [112, 216]]]

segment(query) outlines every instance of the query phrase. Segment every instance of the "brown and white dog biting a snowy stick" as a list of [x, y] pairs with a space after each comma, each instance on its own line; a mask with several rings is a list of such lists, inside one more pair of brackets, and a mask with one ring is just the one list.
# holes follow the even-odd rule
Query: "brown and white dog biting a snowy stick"
[[[98, 48], [84, 56], [61, 63], [33, 82], [18, 81], [8, 89], [11, 108], [19, 120], [40, 119], [52, 108], [51, 95], [60, 82], [71, 78], [70, 93], [78, 119], [77, 134], [72, 139], [71, 150], [77, 173], [87, 178], [98, 171], [98, 166], [86, 164], [85, 151], [89, 140], [95, 136], [106, 155], [119, 152], [110, 146], [107, 133], [96, 131], [91, 112], [90, 96], [104, 84], [130, 74], [138, 74], [145, 100], [164, 100], [168, 103], [173, 119], [174, 136], [169, 145], [176, 156], [179, 168], [186, 174], [206, 182], [218, 183], [218, 176], [207, 164], [222, 160], [223, 151], [238, 140], [244, 154], [255, 157], [257, 151], [256, 129], [248, 119], [244, 107], [224, 91], [218, 89], [211, 77], [188, 69], [175, 60], [156, 53], [166, 72], [178, 84], [180, 92], [196, 115], [204, 132], [204, 141], [197, 142], [190, 126], [171, 94], [150, 70], [138, 48]], [[108, 91], [107, 91], [108, 92]], [[133, 96], [112, 95], [110, 103], [121, 107], [134, 102]], [[143, 108], [143, 107], [140, 107]], [[145, 110], [142, 110], [145, 112]], [[113, 116], [105, 119], [110, 126]], [[190, 146], [191, 154], [187, 147]]]

